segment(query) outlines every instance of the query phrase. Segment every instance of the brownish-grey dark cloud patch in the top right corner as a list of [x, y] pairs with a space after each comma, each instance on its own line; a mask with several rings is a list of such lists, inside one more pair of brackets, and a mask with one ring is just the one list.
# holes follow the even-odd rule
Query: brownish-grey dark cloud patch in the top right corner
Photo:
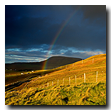
[[72, 6], [81, 7], [80, 11], [83, 14], [83, 20], [87, 19], [90, 23], [97, 23], [99, 25], [106, 25], [106, 6], [105, 5], [80, 5]]

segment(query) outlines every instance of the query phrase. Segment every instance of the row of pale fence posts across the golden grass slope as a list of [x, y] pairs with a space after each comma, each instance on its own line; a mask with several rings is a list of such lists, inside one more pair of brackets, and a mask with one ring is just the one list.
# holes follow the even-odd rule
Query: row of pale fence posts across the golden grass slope
[[[82, 75], [83, 77], [77, 77], [77, 75], [74, 76], [74, 78], [71, 79], [71, 77], [67, 77], [67, 78], [63, 78], [63, 79], [57, 79], [57, 80], [54, 80], [54, 81], [49, 81], [45, 84], [42, 84], [40, 86], [38, 86], [38, 88], [45, 88], [45, 87], [50, 87], [50, 86], [64, 86], [64, 85], [77, 85], [77, 84], [80, 84], [80, 83], [89, 83], [90, 81], [88, 80], [88, 74], [86, 73], [83, 73]], [[88, 76], [88, 77], [87, 77]], [[95, 72], [95, 75], [93, 75], [93, 80], [95, 79], [95, 81], [93, 81], [93, 83], [97, 83], [98, 82], [98, 71]], [[90, 79], [91, 80], [91, 79]]]

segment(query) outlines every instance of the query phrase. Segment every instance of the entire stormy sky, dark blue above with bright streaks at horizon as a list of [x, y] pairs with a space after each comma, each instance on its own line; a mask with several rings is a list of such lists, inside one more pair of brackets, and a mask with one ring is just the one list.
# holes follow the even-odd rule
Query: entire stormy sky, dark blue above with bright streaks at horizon
[[106, 53], [105, 5], [5, 5], [5, 63]]

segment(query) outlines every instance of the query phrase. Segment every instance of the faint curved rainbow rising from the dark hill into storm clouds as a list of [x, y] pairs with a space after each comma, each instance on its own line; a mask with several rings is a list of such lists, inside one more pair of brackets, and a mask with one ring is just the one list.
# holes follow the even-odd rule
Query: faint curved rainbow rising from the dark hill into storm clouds
[[[77, 11], [81, 8], [82, 6], [79, 6], [74, 12], [72, 12], [69, 17], [65, 20], [65, 22], [61, 25], [59, 31], [57, 32], [57, 34], [55, 35], [49, 49], [48, 49], [48, 52], [47, 52], [47, 55], [46, 57], [48, 58], [49, 55], [50, 55], [50, 52], [55, 44], [55, 42], [57, 41], [58, 37], [60, 36], [60, 34], [62, 33], [62, 31], [64, 30], [64, 28], [66, 27], [66, 25], [69, 23], [69, 21], [71, 20], [71, 18], [77, 13]], [[46, 66], [47, 66], [47, 60], [44, 62], [43, 66], [42, 66], [42, 69], [45, 70], [46, 69]]]

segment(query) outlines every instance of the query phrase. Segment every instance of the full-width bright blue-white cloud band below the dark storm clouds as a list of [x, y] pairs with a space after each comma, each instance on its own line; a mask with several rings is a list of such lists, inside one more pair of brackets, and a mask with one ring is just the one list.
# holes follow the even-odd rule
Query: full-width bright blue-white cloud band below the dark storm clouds
[[[47, 54], [49, 53], [49, 54]], [[20, 50], [20, 49], [5, 49], [5, 62], [40, 62], [46, 60], [51, 56], [67, 56], [73, 58], [88, 58], [93, 55], [103, 54], [104, 51], [96, 50], [96, 51], [82, 51], [76, 50], [75, 48], [68, 47], [54, 47], [53, 50], [48, 52], [47, 49], [38, 48], [38, 49], [28, 49], [28, 50]]]

